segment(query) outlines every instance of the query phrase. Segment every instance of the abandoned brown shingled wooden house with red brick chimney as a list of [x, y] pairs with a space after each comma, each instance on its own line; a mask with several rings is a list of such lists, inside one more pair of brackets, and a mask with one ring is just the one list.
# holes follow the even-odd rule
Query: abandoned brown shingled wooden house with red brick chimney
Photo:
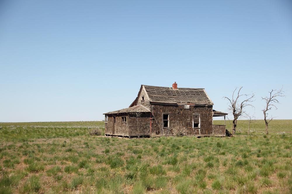
[[[137, 98], [125, 109], [105, 113], [105, 135], [137, 137], [163, 135], [226, 136], [225, 115], [213, 110], [203, 88], [141, 85]], [[213, 125], [213, 117], [224, 125]]]

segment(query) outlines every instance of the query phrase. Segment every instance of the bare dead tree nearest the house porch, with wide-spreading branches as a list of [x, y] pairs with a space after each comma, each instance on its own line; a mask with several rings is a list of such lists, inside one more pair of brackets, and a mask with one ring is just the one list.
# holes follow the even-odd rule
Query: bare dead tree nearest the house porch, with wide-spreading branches
[[[238, 92], [237, 92], [237, 96], [234, 96], [234, 93], [236, 92], [237, 88], [235, 88], [235, 90], [232, 93], [232, 98], [228, 98], [226, 96], [224, 96], [223, 98], [229, 100], [230, 105], [229, 109], [232, 111], [233, 114], [233, 121], [232, 121], [232, 130], [233, 130], [233, 134], [235, 134], [236, 132], [236, 127], [237, 127], [237, 119], [243, 115], [243, 114], [247, 114], [244, 111], [244, 108], [247, 106], [251, 106], [254, 107], [253, 105], [251, 105], [250, 103], [253, 102], [255, 100], [255, 94], [239, 94], [241, 91], [242, 87], [239, 88]], [[241, 97], [245, 97], [245, 99], [241, 99], [239, 102], [239, 99]]]

